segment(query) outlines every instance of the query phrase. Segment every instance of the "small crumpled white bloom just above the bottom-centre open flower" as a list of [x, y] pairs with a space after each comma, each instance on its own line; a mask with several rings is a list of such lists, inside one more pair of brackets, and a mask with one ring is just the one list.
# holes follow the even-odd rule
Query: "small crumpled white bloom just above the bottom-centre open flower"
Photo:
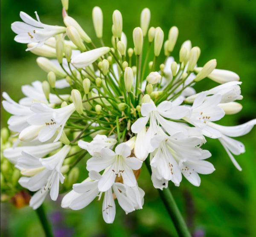
[[93, 141], [84, 142], [79, 140], [78, 146], [84, 150], [87, 150], [91, 156], [100, 156], [100, 151], [102, 148], [111, 148], [116, 144], [116, 139], [108, 138], [106, 135], [97, 134]]

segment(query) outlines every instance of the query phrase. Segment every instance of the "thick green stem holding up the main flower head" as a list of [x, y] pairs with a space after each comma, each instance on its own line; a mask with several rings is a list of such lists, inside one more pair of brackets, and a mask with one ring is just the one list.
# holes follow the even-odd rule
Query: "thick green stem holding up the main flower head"
[[[149, 173], [151, 173], [149, 156], [145, 160], [145, 164], [148, 168]], [[160, 198], [163, 201], [163, 204], [166, 207], [166, 211], [168, 212], [169, 216], [172, 219], [172, 222], [175, 226], [175, 229], [176, 229], [179, 237], [191, 237], [188, 227], [180, 213], [179, 208], [177, 207], [175, 199], [173, 198], [172, 193], [169, 190], [169, 188], [163, 188], [163, 190], [158, 189], [158, 192], [159, 192]]]

